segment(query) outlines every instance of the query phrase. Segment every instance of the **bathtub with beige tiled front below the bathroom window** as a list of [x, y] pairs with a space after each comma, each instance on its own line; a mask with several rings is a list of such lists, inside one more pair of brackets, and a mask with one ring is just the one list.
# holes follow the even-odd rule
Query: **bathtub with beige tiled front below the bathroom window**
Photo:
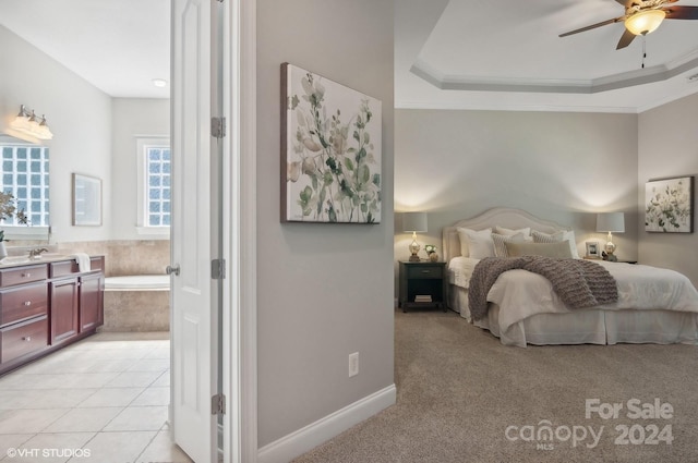
[[169, 331], [169, 291], [168, 275], [105, 278], [101, 331]]

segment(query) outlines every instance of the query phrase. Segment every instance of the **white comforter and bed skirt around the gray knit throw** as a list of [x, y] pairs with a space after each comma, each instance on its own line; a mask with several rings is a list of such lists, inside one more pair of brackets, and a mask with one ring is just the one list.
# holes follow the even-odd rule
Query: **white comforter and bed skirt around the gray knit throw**
[[[452, 259], [449, 263], [452, 284], [467, 290], [478, 261], [469, 257]], [[570, 309], [559, 300], [546, 278], [526, 270], [509, 270], [500, 276], [488, 294], [488, 301], [495, 305], [494, 312], [488, 319], [476, 321], [476, 325], [489, 329], [504, 343], [515, 345], [526, 345], [527, 341], [543, 344], [695, 341], [696, 322], [698, 322], [698, 291], [685, 276], [673, 270], [643, 265], [603, 260], [599, 260], [598, 264], [605, 267], [615, 278], [618, 285], [617, 303], [589, 309]], [[460, 295], [460, 315], [469, 319], [467, 305], [462, 304], [466, 302], [464, 294]], [[629, 315], [628, 309], [633, 309], [636, 314]], [[652, 317], [652, 324], [658, 328], [657, 334], [653, 336], [651, 332], [642, 336], [614, 334], [623, 333], [624, 330], [630, 332], [623, 325], [624, 320], [638, 325], [638, 317], [642, 315], [637, 310], [647, 312], [647, 316]], [[690, 316], [664, 319], [661, 313], [665, 310], [686, 313]], [[604, 315], [605, 313], [615, 314]], [[571, 319], [565, 319], [565, 317], [540, 317], [543, 314], [571, 314], [576, 320], [570, 322]], [[552, 325], [556, 329], [546, 333], [545, 329], [540, 328], [541, 319], [545, 319], [545, 325]], [[667, 337], [666, 332], [670, 331], [664, 327], [676, 326], [676, 320], [683, 334], [672, 341], [673, 334]], [[528, 331], [522, 325], [524, 321], [528, 324]], [[566, 342], [565, 329], [571, 334]], [[647, 331], [642, 327], [639, 329]], [[612, 332], [610, 337], [606, 330]], [[689, 334], [686, 336], [686, 333]]]

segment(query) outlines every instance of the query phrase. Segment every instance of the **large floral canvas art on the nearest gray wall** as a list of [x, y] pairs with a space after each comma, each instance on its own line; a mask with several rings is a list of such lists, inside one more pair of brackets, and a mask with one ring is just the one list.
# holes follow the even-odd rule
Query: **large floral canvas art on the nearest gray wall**
[[281, 64], [281, 221], [380, 223], [381, 101]]

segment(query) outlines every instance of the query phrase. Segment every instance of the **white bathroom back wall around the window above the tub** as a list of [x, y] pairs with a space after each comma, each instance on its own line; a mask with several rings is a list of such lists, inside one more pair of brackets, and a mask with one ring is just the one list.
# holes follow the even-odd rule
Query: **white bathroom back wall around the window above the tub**
[[153, 237], [136, 233], [137, 153], [136, 136], [169, 136], [169, 99], [115, 98], [112, 100], [113, 208], [111, 237], [144, 240]]

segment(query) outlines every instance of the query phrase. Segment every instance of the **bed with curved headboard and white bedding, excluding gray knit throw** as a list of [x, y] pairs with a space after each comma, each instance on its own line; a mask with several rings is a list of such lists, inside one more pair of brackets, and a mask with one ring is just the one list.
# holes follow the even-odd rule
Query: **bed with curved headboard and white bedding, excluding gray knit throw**
[[448, 306], [507, 345], [698, 343], [698, 291], [690, 280], [673, 270], [626, 263], [594, 261], [616, 280], [617, 302], [574, 309], [544, 277], [521, 269], [505, 271], [486, 293], [486, 315], [474, 320], [468, 291], [477, 264], [488, 253], [482, 243], [496, 235], [497, 246], [503, 235], [508, 242], [530, 242], [533, 232], [545, 237], [544, 243], [558, 242], [557, 248], [566, 242], [569, 255], [579, 258], [570, 228], [518, 209], [494, 208], [444, 228]]

